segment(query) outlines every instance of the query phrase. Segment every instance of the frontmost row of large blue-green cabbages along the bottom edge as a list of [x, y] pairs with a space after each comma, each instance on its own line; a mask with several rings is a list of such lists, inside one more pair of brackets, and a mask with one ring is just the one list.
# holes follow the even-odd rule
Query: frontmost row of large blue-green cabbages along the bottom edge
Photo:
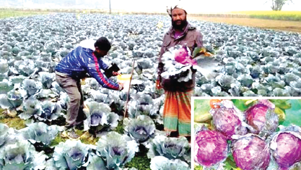
[[[143, 119], [148, 121], [139, 121]], [[41, 121], [20, 130], [0, 123], [0, 169], [122, 169], [138, 156], [136, 153], [142, 145], [147, 148], [150, 169], [161, 168], [162, 164], [164, 169], [176, 166], [189, 169], [188, 140], [155, 135], [154, 127], [148, 126], [150, 121], [145, 115], [138, 116], [133, 120], [138, 125], [126, 125], [124, 134], [109, 131], [100, 135], [96, 145], [82, 143], [80, 139], [53, 145], [52, 141], [62, 135], [64, 127]]]

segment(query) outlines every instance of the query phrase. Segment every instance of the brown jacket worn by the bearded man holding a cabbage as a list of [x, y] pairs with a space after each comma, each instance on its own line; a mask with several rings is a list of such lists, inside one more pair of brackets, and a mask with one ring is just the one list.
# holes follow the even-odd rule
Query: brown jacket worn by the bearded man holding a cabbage
[[[162, 55], [168, 48], [175, 46], [176, 44], [187, 44], [192, 52], [195, 47], [203, 46], [203, 35], [195, 27], [191, 26], [189, 23], [184, 28], [183, 33], [175, 38], [175, 30], [171, 28], [163, 38], [163, 44], [160, 51], [159, 62], [161, 61]], [[159, 70], [159, 75], [161, 71]], [[189, 91], [195, 86], [195, 72], [192, 75], [192, 79], [188, 82], [178, 82], [177, 80], [164, 79], [162, 78], [162, 85], [165, 90], [168, 91]]]

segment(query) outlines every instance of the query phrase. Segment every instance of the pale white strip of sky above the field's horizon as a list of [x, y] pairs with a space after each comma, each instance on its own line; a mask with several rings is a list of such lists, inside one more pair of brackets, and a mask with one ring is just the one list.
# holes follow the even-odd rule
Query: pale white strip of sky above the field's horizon
[[[75, 8], [98, 8], [109, 9], [109, 0], [60, 0], [72, 2], [71, 5], [61, 6], [53, 3], [55, 0], [38, 0], [43, 5], [34, 4], [37, 0], [0, 0], [2, 4], [8, 4], [12, 1], [18, 1], [15, 4], [25, 4], [24, 7], [46, 6], [45, 8], [66, 8], [72, 5]], [[180, 0], [188, 13], [210, 13], [227, 11], [245, 11], [245, 10], [271, 10], [271, 1], [268, 0]], [[282, 10], [301, 11], [301, 0], [292, 0], [293, 3], [285, 4]], [[265, 3], [266, 2], [266, 3]], [[160, 12], [165, 13], [167, 6], [176, 5], [179, 0], [111, 0], [113, 11], [124, 12]], [[1, 6], [1, 4], [0, 4]], [[43, 7], [42, 7], [43, 8]]]

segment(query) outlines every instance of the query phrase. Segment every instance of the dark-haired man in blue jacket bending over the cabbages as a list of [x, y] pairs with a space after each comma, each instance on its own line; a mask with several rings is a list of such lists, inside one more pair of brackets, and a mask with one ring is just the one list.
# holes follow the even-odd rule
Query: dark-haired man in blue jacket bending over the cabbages
[[[110, 50], [111, 44], [106, 37], [96, 40], [83, 40], [56, 66], [56, 81], [67, 92], [70, 104], [67, 109], [65, 125], [67, 128], [81, 124], [85, 119], [83, 112], [84, 100], [80, 79], [87, 74], [95, 78], [103, 87], [113, 90], [122, 90], [123, 84], [108, 79], [101, 71], [107, 70], [108, 65], [101, 58]], [[112, 72], [117, 75], [117, 72]]]

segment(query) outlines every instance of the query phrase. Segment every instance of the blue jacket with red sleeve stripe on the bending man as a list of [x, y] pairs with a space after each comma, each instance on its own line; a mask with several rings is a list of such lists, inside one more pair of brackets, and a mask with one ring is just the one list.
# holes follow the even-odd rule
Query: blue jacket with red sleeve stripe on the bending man
[[101, 58], [97, 58], [92, 49], [77, 46], [57, 64], [55, 70], [74, 79], [85, 78], [88, 74], [105, 88], [121, 90], [121, 85], [108, 79], [100, 71], [100, 69], [106, 70], [107, 68], [108, 65]]

